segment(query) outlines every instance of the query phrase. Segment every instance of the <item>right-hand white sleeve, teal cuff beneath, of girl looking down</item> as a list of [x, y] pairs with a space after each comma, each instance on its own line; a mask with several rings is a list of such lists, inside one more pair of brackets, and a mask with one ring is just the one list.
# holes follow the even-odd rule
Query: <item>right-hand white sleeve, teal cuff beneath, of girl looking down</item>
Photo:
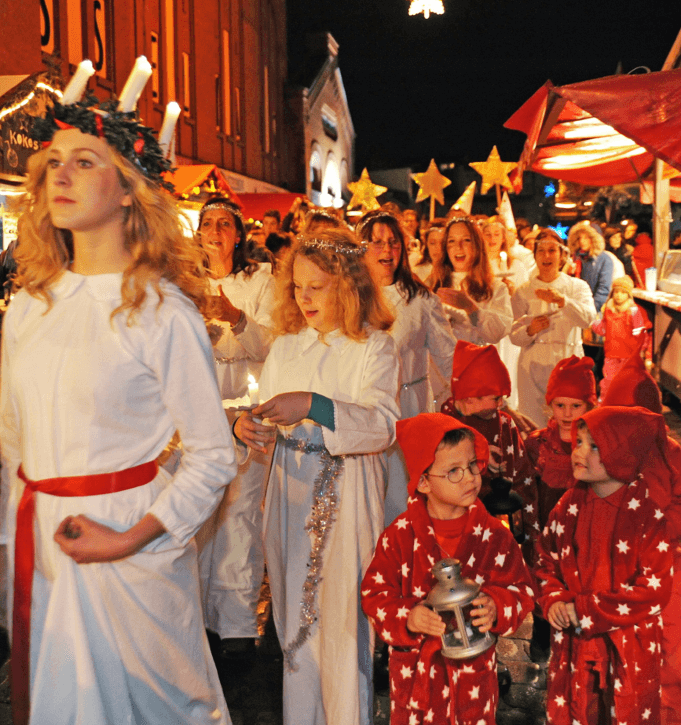
[[378, 453], [395, 440], [395, 423], [400, 417], [395, 342], [388, 334], [374, 334], [366, 344], [359, 400], [334, 400], [335, 430], [322, 428], [332, 456]]

